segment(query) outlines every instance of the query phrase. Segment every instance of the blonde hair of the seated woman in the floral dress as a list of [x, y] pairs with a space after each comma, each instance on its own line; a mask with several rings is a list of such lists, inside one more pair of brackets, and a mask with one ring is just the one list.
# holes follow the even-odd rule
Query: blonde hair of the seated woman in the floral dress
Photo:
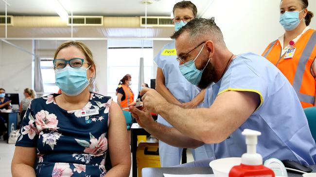
[[70, 46], [74, 46], [74, 47], [77, 47], [78, 49], [80, 49], [85, 54], [86, 60], [88, 61], [88, 65], [91, 67], [94, 67], [95, 74], [94, 74], [93, 78], [91, 78], [89, 81], [90, 91], [94, 91], [94, 89], [96, 88], [96, 87], [94, 87], [94, 80], [96, 77], [96, 68], [95, 68], [95, 63], [93, 60], [92, 52], [90, 51], [90, 49], [88, 48], [88, 46], [86, 44], [83, 44], [82, 42], [79, 42], [79, 41], [67, 41], [67, 42], [59, 45], [59, 47], [56, 49], [54, 59], [56, 59], [57, 54], [61, 49], [67, 48]]

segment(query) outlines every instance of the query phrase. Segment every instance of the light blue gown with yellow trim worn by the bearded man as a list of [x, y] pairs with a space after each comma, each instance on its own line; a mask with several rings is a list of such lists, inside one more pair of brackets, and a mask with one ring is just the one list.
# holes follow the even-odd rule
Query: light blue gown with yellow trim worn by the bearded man
[[258, 109], [225, 141], [213, 144], [214, 158], [241, 157], [246, 152], [244, 129], [260, 131], [257, 152], [263, 161], [290, 159], [315, 164], [316, 144], [294, 88], [272, 63], [246, 53], [230, 63], [223, 77], [207, 88], [203, 107], [229, 90], [253, 91], [260, 95]]

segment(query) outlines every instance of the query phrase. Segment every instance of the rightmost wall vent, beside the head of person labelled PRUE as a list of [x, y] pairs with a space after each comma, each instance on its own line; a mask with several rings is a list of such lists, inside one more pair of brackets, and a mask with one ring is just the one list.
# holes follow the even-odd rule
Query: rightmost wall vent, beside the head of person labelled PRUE
[[[145, 16], [140, 16], [140, 27], [145, 27]], [[169, 16], [147, 16], [147, 27], [174, 27]]]

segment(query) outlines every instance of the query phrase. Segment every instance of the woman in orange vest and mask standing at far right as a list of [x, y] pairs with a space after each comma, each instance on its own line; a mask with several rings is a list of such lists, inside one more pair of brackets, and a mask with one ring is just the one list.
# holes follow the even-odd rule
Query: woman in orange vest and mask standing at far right
[[314, 15], [307, 7], [308, 0], [281, 0], [285, 33], [262, 54], [289, 80], [303, 108], [316, 106], [316, 30], [309, 27]]

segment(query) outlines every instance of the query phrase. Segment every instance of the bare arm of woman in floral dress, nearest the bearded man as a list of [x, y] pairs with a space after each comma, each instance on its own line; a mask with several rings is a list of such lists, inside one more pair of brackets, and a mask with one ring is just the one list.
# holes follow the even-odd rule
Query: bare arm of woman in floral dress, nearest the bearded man
[[120, 106], [112, 102], [109, 111], [108, 147], [112, 166], [131, 165], [126, 121]]

